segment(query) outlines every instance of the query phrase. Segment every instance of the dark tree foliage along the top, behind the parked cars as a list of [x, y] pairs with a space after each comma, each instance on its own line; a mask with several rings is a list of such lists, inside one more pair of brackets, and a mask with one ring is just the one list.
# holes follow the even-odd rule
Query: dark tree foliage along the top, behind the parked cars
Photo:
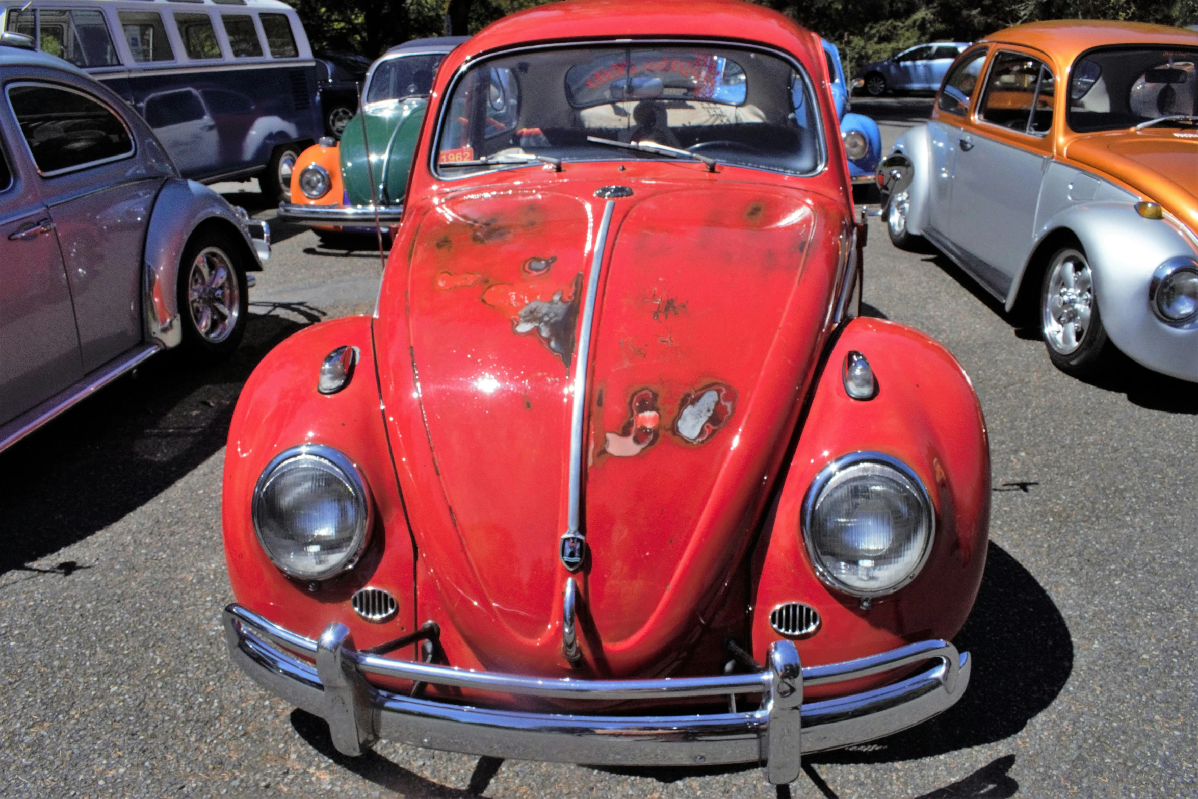
[[[375, 57], [418, 36], [473, 34], [541, 0], [290, 0], [317, 49]], [[652, 1], [652, 0], [649, 0]], [[970, 42], [1036, 19], [1198, 24], [1198, 0], [758, 0], [841, 48], [846, 69], [937, 40]]]

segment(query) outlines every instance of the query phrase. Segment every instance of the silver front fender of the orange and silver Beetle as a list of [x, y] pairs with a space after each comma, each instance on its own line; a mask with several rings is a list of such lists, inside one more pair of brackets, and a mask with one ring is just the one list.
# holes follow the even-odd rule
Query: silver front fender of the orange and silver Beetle
[[[1130, 202], [1097, 201], [1072, 205], [1047, 219], [1036, 231], [1031, 255], [1006, 299], [1014, 308], [1018, 284], [1045, 253], [1051, 237], [1067, 231], [1085, 250], [1094, 278], [1094, 296], [1107, 335], [1126, 356], [1150, 369], [1182, 380], [1198, 379], [1193, 356], [1194, 331], [1160, 321], [1149, 305], [1152, 272], [1170, 258], [1198, 258], [1198, 238], [1170, 216], [1142, 217]], [[1039, 286], [1028, 286], [1039, 297]], [[1039, 308], [1039, 303], [1036, 305]]]

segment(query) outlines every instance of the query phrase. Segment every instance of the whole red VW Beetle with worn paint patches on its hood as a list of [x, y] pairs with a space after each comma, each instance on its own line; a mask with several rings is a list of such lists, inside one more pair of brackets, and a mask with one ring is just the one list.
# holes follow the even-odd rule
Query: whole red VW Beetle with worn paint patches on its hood
[[447, 56], [410, 181], [374, 316], [237, 404], [238, 665], [345, 753], [776, 783], [961, 697], [984, 420], [944, 347], [857, 317], [816, 35], [734, 0], [514, 14]]

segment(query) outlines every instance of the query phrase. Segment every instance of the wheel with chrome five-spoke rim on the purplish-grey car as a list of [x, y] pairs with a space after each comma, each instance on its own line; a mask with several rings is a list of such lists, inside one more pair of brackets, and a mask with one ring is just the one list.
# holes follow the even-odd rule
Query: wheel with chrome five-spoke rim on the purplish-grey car
[[182, 347], [195, 358], [226, 358], [246, 334], [249, 286], [244, 247], [231, 232], [208, 228], [194, 234], [183, 250], [176, 295]]

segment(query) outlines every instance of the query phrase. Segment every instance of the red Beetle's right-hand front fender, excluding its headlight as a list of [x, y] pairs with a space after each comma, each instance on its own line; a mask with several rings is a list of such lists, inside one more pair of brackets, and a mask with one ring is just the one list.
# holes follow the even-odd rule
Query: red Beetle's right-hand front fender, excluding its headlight
[[[876, 377], [871, 399], [848, 397], [842, 377], [851, 351]], [[847, 322], [807, 399], [794, 454], [754, 565], [752, 652], [762, 661], [782, 637], [770, 611], [799, 601], [813, 607], [821, 631], [795, 641], [804, 666], [849, 660], [914, 640], [951, 640], [973, 606], [986, 562], [990, 444], [969, 377], [951, 353], [922, 333], [879, 319]], [[863, 604], [828, 587], [804, 541], [803, 503], [828, 464], [878, 452], [907, 464], [936, 509], [928, 558], [907, 586]], [[811, 696], [819, 692], [812, 686]]]

